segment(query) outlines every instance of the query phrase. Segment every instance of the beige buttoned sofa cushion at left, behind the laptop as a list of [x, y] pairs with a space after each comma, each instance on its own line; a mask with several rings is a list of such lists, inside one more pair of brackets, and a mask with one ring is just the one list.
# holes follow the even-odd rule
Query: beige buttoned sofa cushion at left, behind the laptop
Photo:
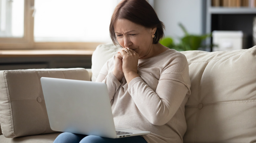
[[50, 128], [41, 77], [90, 80], [83, 68], [0, 71], [0, 124], [5, 137], [55, 132]]

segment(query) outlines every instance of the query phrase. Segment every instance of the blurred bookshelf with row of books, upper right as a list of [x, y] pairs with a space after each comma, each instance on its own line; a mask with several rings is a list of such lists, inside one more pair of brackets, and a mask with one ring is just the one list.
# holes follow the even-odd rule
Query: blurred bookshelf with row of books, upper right
[[[256, 0], [207, 0], [206, 1], [206, 30], [243, 31], [245, 47], [253, 43], [253, 20], [256, 17]], [[211, 39], [206, 41], [211, 43]]]

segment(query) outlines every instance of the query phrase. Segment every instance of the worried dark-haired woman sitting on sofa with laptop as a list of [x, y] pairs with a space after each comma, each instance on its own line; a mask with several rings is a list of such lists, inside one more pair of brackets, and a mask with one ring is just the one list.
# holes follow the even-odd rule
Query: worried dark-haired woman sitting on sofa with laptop
[[[110, 139], [60, 134], [55, 142], [182, 142], [185, 103], [190, 94], [186, 57], [159, 43], [164, 25], [145, 0], [123, 0], [114, 10], [110, 36], [122, 48], [101, 69], [115, 126], [150, 131], [149, 135]], [[69, 140], [69, 141], [68, 141]]]

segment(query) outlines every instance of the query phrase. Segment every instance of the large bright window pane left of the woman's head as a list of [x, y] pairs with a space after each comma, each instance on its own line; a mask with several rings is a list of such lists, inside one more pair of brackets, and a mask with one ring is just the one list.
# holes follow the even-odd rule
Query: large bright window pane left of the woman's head
[[115, 0], [35, 0], [34, 40], [110, 42], [116, 5]]

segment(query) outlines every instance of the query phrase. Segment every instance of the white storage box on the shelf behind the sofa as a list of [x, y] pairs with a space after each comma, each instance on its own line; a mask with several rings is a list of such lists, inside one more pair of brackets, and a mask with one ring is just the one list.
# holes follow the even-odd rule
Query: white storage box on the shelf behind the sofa
[[212, 51], [229, 51], [243, 49], [244, 34], [242, 31], [218, 31], [212, 32]]

